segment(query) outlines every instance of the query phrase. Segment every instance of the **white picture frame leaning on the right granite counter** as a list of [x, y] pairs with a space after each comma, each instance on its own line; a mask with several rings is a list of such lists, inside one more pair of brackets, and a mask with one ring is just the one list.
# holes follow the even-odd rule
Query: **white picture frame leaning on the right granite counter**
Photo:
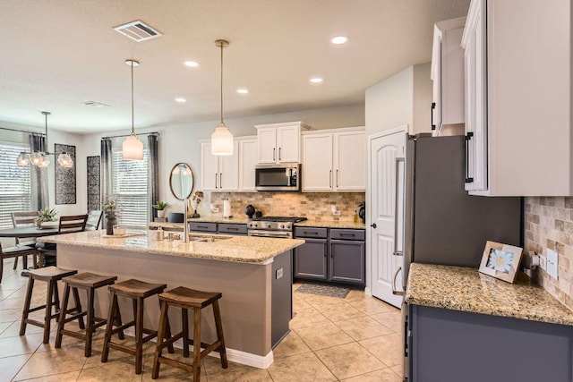
[[513, 284], [516, 280], [523, 248], [501, 242], [486, 242], [480, 272]]

